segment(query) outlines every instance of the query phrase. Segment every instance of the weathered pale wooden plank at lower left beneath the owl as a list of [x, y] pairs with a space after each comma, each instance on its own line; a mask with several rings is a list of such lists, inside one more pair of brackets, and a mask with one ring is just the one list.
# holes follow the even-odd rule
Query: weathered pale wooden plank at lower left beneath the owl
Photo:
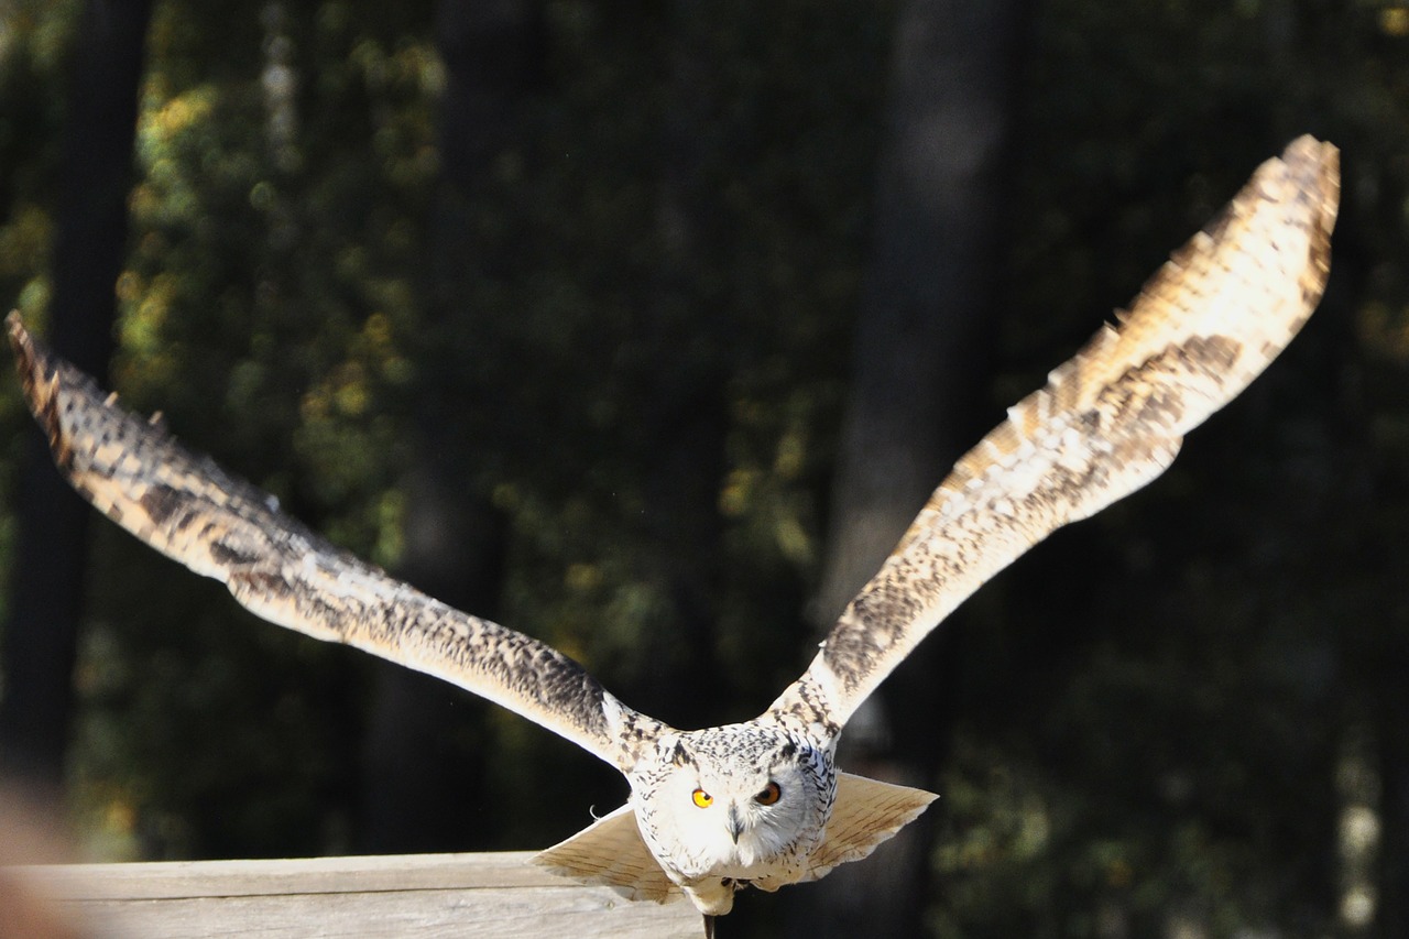
[[688, 902], [633, 904], [527, 852], [35, 866], [17, 871], [96, 936], [697, 939]]

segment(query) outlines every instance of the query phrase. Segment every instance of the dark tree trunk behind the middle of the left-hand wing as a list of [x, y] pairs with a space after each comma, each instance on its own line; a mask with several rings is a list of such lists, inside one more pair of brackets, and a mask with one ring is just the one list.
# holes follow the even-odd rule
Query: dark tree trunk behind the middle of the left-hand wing
[[[431, 272], [421, 336], [423, 381], [416, 389], [414, 467], [404, 479], [406, 550], [399, 574], [430, 595], [495, 616], [507, 526], [465, 482], [466, 453], [455, 375], [455, 320], [466, 309], [468, 278], [499, 274], [497, 245], [472, 221], [499, 154], [519, 133], [517, 113], [541, 58], [538, 0], [442, 0], [437, 39], [445, 62], [441, 104], [441, 180], [431, 224]], [[378, 663], [373, 708], [362, 744], [364, 850], [433, 852], [483, 847], [495, 819], [473, 815], [485, 787], [479, 763], [457, 740], [478, 737], [485, 705], [445, 682]]]

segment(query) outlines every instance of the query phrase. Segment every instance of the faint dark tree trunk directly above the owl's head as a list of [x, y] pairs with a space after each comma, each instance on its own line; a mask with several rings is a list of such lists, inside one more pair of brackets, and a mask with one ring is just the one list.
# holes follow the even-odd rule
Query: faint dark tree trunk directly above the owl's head
[[[659, 127], [655, 189], [658, 254], [650, 295], [643, 297], [644, 360], [637, 447], [644, 474], [640, 564], [662, 598], [665, 616], [647, 637], [659, 664], [631, 689], [665, 720], [707, 726], [723, 720], [727, 677], [716, 651], [719, 491], [728, 433], [728, 316], [704, 296], [716, 282], [717, 193], [707, 183], [719, 138], [712, 120], [717, 97], [706, 48], [707, 7], [688, 0], [666, 8], [662, 70], [666, 109]], [[688, 546], [688, 550], [682, 550]], [[721, 684], [721, 681], [724, 684]]]

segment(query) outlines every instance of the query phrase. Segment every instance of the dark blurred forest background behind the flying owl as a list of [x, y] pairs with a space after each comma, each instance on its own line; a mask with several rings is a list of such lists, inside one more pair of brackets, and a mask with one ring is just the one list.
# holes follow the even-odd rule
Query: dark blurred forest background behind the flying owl
[[[848, 732], [923, 821], [721, 932], [1403, 936], [1403, 0], [0, 0], [0, 303], [695, 728], [1308, 131], [1320, 313]], [[93, 524], [0, 389], [0, 761], [93, 857], [534, 849], [624, 798]]]

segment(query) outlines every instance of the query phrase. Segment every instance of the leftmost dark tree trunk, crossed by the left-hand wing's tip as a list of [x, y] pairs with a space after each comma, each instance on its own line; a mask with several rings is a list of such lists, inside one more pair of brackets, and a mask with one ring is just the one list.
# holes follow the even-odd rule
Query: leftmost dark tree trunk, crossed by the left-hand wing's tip
[[[114, 283], [127, 243], [137, 92], [149, 0], [89, 0], [73, 49], [48, 340], [107, 371]], [[73, 709], [87, 506], [54, 470], [38, 430], [20, 468], [18, 539], [0, 689], [0, 768], [56, 794]]]

